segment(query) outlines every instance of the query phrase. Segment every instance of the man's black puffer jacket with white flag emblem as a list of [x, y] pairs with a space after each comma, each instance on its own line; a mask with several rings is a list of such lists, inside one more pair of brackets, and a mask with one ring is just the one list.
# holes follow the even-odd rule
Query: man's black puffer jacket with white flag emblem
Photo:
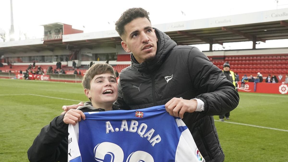
[[212, 115], [236, 108], [239, 95], [234, 85], [198, 48], [177, 46], [168, 35], [155, 31], [155, 59], [139, 64], [131, 54], [131, 65], [120, 73], [116, 104], [134, 110], [164, 105], [173, 97], [201, 99], [204, 111], [185, 113], [183, 121], [204, 159], [223, 161]]

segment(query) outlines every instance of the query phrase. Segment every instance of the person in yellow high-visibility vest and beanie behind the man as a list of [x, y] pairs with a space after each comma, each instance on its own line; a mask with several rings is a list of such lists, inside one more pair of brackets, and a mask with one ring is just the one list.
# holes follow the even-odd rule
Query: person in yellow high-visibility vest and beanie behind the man
[[[236, 91], [238, 92], [238, 84], [235, 77], [235, 74], [233, 71], [230, 70], [230, 64], [228, 63], [228, 61], [226, 63], [223, 64], [223, 73], [226, 76], [226, 78], [233, 83], [233, 85], [235, 86]], [[226, 118], [226, 120], [229, 120], [230, 116], [230, 112], [227, 112], [226, 114], [221, 114], [219, 115], [219, 120], [220, 121], [224, 121], [224, 117]]]

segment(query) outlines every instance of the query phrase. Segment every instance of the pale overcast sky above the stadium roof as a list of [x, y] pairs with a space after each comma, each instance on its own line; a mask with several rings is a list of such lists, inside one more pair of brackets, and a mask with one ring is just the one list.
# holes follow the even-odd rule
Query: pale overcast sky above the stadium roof
[[[153, 24], [288, 8], [288, 0], [278, 0], [278, 3], [276, 1], [13, 0], [15, 38], [18, 39], [19, 33], [27, 33], [29, 38], [43, 37], [43, 27], [40, 25], [54, 22], [72, 25], [73, 28], [84, 30], [85, 33], [113, 30], [114, 22], [125, 10], [132, 7], [147, 10], [153, 26]], [[8, 34], [11, 25], [10, 0], [0, 0], [0, 7], [0, 32], [6, 31]], [[24, 35], [21, 36], [22, 39], [23, 37]]]

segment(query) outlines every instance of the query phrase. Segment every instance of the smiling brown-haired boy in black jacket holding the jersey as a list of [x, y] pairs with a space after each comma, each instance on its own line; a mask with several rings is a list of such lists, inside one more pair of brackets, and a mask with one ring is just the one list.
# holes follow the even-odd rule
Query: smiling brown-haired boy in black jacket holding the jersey
[[119, 110], [113, 105], [118, 97], [118, 85], [112, 66], [92, 65], [84, 75], [82, 86], [90, 102], [57, 116], [43, 127], [27, 151], [29, 161], [67, 161], [69, 124], [76, 125], [81, 118], [85, 120], [83, 112]]

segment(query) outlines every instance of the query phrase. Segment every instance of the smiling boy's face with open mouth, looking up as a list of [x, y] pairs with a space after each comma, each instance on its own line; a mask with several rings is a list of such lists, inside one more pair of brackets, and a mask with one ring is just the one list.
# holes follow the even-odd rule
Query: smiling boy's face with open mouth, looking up
[[118, 97], [116, 78], [111, 73], [95, 75], [90, 82], [90, 89], [85, 89], [85, 95], [91, 99], [95, 108], [114, 103]]

